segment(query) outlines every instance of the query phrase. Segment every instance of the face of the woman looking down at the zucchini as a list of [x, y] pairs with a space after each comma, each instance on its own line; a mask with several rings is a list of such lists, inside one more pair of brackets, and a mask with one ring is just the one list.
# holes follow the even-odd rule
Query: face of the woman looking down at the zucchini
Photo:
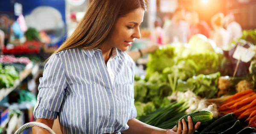
[[126, 51], [135, 40], [140, 39], [140, 24], [143, 22], [144, 10], [138, 8], [125, 17], [120, 17], [114, 25], [109, 44]]

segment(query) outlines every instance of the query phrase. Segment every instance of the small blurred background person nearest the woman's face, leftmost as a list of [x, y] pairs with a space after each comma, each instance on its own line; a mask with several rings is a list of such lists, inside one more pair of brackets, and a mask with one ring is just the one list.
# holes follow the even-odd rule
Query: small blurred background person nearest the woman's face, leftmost
[[162, 29], [162, 21], [160, 18], [154, 22], [154, 29], [151, 30], [150, 39], [154, 44], [163, 44], [163, 29]]

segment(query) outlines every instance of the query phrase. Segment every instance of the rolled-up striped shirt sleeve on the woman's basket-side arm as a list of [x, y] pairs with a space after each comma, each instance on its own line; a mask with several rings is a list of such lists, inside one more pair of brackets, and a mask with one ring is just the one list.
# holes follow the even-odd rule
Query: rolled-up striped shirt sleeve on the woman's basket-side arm
[[63, 63], [58, 54], [51, 56], [39, 81], [34, 117], [55, 120], [65, 95], [64, 89], [67, 87]]

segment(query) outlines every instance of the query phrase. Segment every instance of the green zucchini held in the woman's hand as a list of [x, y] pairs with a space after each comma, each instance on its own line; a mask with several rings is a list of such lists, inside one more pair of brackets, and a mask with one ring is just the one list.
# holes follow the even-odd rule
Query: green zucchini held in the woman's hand
[[188, 122], [189, 122], [188, 116], [190, 116], [192, 118], [193, 126], [195, 126], [195, 124], [197, 122], [204, 123], [209, 120], [212, 120], [213, 114], [212, 114], [212, 112], [207, 111], [207, 110], [201, 110], [201, 111], [192, 112], [190, 114], [186, 114], [185, 116], [181, 117], [180, 120], [178, 120], [177, 128], [178, 128], [179, 121], [181, 121], [181, 123], [182, 123], [182, 119], [185, 119], [186, 123], [188, 124]]

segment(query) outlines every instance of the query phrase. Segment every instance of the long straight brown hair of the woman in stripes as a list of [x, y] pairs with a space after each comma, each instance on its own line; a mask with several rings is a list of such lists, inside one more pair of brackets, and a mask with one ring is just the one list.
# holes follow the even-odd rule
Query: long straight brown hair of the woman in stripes
[[93, 0], [74, 33], [55, 51], [58, 53], [70, 48], [100, 48], [107, 41], [119, 17], [143, 8], [144, 0]]

